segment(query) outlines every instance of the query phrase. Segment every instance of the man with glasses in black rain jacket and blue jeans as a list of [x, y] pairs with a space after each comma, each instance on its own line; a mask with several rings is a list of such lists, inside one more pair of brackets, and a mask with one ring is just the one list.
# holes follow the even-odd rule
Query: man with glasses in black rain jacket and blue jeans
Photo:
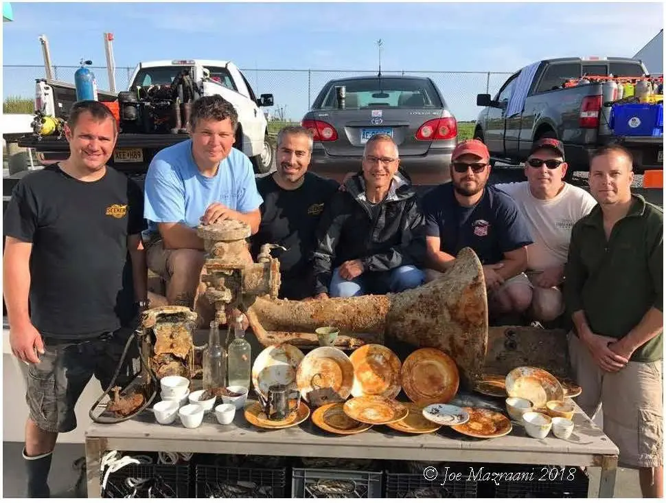
[[317, 298], [398, 292], [418, 287], [425, 255], [424, 219], [389, 135], [365, 145], [363, 171], [334, 194], [317, 229]]

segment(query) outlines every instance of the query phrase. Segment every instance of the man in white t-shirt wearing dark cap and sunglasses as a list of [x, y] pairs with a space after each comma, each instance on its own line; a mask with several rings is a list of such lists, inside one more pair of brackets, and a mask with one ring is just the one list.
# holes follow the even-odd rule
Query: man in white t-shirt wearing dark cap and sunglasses
[[532, 145], [525, 163], [527, 181], [496, 185], [516, 201], [533, 239], [527, 247], [528, 312], [540, 322], [551, 322], [564, 311], [560, 287], [571, 228], [597, 204], [586, 190], [564, 182], [566, 168], [562, 142], [544, 138]]

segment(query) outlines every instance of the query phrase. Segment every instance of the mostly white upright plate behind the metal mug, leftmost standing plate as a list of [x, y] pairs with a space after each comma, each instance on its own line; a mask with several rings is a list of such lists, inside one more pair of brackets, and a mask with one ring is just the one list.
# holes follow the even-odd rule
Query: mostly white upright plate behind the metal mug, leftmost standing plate
[[296, 382], [296, 370], [303, 359], [303, 353], [291, 344], [277, 344], [264, 349], [252, 366], [252, 384], [264, 397], [268, 396], [268, 386], [284, 384], [290, 387]]

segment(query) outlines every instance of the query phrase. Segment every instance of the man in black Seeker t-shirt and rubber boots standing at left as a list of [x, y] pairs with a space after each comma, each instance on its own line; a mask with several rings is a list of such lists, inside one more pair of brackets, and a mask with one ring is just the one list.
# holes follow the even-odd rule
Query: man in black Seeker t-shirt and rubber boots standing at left
[[[119, 364], [131, 331], [120, 330], [128, 311], [128, 254], [136, 305], [148, 303], [141, 189], [106, 166], [115, 118], [100, 102], [78, 102], [65, 135], [69, 158], [23, 177], [4, 217], [10, 344], [28, 364], [29, 498], [49, 497], [58, 432], [76, 428], [74, 407], [91, 377], [106, 389]], [[124, 372], [131, 377], [130, 368]]]

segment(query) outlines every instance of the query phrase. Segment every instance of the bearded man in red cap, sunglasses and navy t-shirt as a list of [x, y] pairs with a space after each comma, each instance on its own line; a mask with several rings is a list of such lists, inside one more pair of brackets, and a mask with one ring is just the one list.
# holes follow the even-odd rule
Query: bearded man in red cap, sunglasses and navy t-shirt
[[464, 247], [474, 250], [488, 290], [490, 315], [523, 313], [531, 302], [527, 245], [532, 243], [516, 203], [487, 186], [490, 153], [477, 139], [460, 142], [451, 155], [451, 182], [424, 197], [428, 279], [446, 271]]

